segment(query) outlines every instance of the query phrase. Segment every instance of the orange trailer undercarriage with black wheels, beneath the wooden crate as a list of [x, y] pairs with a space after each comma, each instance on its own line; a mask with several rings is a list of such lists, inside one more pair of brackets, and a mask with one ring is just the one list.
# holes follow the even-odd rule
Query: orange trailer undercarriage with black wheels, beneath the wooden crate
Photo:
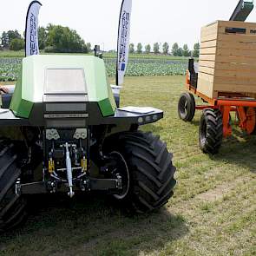
[[[193, 59], [190, 61], [194, 62]], [[256, 99], [241, 93], [219, 93], [217, 98], [210, 98], [200, 93], [194, 86], [198, 73], [187, 71], [186, 89], [178, 104], [178, 114], [183, 121], [193, 121], [195, 110], [202, 110], [199, 128], [200, 148], [204, 153], [217, 154], [223, 138], [233, 133], [231, 113], [235, 113], [235, 125], [238, 125], [247, 135], [253, 135], [256, 130]], [[194, 95], [202, 100], [196, 105]]]

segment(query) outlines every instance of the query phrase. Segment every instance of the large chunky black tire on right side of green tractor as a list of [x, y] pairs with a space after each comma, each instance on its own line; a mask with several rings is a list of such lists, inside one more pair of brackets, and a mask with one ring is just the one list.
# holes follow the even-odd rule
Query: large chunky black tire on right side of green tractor
[[173, 154], [168, 153], [166, 143], [159, 136], [141, 131], [121, 133], [114, 140], [110, 139], [110, 143], [115, 143], [115, 152], [123, 156], [128, 166], [128, 193], [121, 199], [124, 206], [134, 213], [148, 213], [164, 206], [176, 184]]

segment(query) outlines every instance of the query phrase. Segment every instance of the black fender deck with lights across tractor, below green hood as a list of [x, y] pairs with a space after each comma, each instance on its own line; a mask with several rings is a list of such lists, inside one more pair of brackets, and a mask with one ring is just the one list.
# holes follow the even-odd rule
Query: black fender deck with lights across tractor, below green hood
[[[57, 104], [56, 102], [55, 104]], [[69, 105], [69, 102], [65, 102]], [[70, 102], [72, 103], [72, 102]], [[123, 111], [121, 108], [115, 110], [115, 115], [110, 115], [107, 117], [102, 116], [100, 108], [96, 102], [82, 102], [82, 104], [87, 105], [85, 109], [87, 111], [82, 111], [80, 114], [85, 115], [72, 115], [74, 111], [65, 111], [64, 113], [58, 112], [54, 113], [56, 116], [52, 117], [45, 111], [42, 103], [35, 104], [35, 107], [32, 109], [30, 118], [19, 118], [16, 117], [10, 109], [3, 109], [0, 112], [0, 127], [1, 126], [32, 126], [32, 127], [45, 127], [45, 128], [62, 128], [62, 125], [56, 124], [52, 126], [52, 120], [57, 121], [66, 121], [69, 125], [63, 126], [64, 128], [70, 128], [70, 123], [75, 123], [75, 121], [81, 121], [79, 126], [81, 128], [88, 127], [90, 125], [145, 125], [148, 123], [153, 123], [159, 121], [163, 118], [163, 111], [161, 109], [152, 108], [152, 111], [148, 114], [140, 114], [138, 112], [128, 112]], [[93, 113], [91, 115], [90, 113]], [[53, 113], [50, 113], [53, 114]], [[57, 116], [59, 115], [59, 116]], [[75, 128], [78, 128], [75, 126]]]

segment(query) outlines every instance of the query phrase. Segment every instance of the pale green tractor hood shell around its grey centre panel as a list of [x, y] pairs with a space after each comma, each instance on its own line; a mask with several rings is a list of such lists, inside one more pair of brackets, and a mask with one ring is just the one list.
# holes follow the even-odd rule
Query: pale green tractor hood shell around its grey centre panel
[[16, 116], [29, 118], [33, 104], [43, 102], [47, 69], [83, 69], [89, 102], [98, 102], [103, 116], [115, 114], [115, 98], [102, 59], [95, 56], [45, 55], [23, 59], [22, 74], [10, 104]]

